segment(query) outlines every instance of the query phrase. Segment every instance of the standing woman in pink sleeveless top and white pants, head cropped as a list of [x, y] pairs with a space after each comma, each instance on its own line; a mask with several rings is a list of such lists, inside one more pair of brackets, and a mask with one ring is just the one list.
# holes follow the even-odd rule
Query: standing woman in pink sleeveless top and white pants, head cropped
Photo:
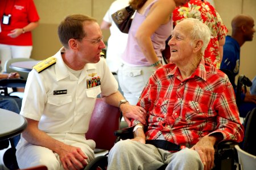
[[137, 104], [148, 78], [162, 66], [165, 40], [171, 35], [171, 14], [188, 0], [131, 1], [137, 10], [118, 69], [118, 81], [130, 104]]

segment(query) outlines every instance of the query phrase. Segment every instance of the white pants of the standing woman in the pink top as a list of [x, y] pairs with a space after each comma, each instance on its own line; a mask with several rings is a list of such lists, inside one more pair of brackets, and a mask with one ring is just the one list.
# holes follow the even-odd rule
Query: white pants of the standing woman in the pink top
[[154, 73], [153, 67], [130, 67], [122, 64], [118, 69], [118, 82], [125, 99], [136, 105], [148, 79]]

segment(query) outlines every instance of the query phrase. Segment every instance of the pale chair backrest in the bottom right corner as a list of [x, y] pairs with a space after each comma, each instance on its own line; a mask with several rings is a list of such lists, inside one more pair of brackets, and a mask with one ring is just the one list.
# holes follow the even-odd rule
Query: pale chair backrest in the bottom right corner
[[243, 151], [238, 145], [235, 146], [238, 154], [238, 163], [243, 170], [254, 170], [256, 168], [256, 156]]

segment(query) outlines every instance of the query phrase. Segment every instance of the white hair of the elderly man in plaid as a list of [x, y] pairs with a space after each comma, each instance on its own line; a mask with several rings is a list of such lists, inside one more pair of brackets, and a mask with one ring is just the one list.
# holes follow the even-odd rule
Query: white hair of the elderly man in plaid
[[[192, 23], [191, 24], [192, 29], [191, 29], [191, 35], [190, 36], [192, 38], [192, 41], [195, 41], [195, 40], [202, 40], [203, 41], [203, 46], [201, 48], [201, 53], [204, 54], [204, 50], [207, 48], [208, 43], [210, 41], [211, 32], [210, 32], [209, 27], [206, 24], [204, 24], [203, 22], [201, 22], [200, 20], [195, 19], [195, 18], [187, 18], [187, 19], [182, 20], [181, 22], [190, 22], [190, 23]], [[192, 45], [192, 43], [193, 42], [191, 42], [191, 45]]]

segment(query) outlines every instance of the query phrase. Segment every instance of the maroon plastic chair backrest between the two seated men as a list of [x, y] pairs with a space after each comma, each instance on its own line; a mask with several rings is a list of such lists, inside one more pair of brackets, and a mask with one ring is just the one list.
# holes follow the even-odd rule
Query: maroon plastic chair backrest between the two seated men
[[110, 150], [115, 143], [114, 131], [119, 129], [120, 116], [119, 108], [96, 99], [86, 139], [93, 139], [98, 149]]

